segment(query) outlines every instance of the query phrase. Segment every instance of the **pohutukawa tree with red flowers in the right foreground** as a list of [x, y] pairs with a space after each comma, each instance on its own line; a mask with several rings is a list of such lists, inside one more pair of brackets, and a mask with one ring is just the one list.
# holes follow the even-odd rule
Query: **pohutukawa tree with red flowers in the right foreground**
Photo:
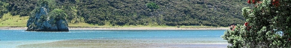
[[[228, 48], [290, 48], [291, 0], [248, 0], [244, 7], [244, 25], [226, 30], [221, 37]], [[243, 23], [242, 23], [243, 24]]]

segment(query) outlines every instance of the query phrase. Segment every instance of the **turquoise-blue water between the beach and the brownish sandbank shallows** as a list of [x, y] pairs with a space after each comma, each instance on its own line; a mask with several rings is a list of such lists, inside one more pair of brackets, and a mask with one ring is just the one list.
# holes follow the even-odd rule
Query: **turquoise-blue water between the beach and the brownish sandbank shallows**
[[146, 40], [148, 43], [227, 44], [220, 36], [225, 30], [70, 30], [70, 32], [28, 32], [0, 30], [0, 48], [22, 44], [74, 39]]

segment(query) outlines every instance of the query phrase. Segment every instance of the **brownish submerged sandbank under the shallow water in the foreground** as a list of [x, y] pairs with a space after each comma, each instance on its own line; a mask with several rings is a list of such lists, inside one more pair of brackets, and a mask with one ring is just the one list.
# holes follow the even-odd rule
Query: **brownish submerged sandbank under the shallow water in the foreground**
[[216, 43], [169, 43], [141, 40], [76, 39], [48, 43], [24, 44], [18, 48], [226, 48], [227, 44]]

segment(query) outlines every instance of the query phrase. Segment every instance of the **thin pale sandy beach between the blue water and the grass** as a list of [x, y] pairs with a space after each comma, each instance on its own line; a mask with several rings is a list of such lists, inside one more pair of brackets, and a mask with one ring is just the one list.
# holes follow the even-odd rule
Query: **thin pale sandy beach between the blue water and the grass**
[[[26, 30], [27, 27], [1, 27], [0, 30]], [[69, 28], [69, 30], [226, 30], [229, 28]]]

